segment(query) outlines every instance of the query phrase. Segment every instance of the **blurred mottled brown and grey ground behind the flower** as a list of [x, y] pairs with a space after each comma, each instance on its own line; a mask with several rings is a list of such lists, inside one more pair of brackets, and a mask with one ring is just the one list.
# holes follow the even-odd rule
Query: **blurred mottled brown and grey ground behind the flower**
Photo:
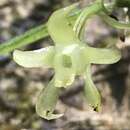
[[[43, 24], [54, 10], [74, 2], [76, 0], [0, 0], [0, 44]], [[91, 0], [82, 0], [83, 5], [89, 2]], [[114, 13], [124, 19], [122, 11]], [[122, 32], [113, 30], [97, 16], [86, 26], [86, 42], [96, 47], [117, 42], [123, 56], [114, 65], [92, 66], [93, 80], [102, 95], [99, 113], [88, 107], [82, 78], [77, 77], [73, 85], [60, 94], [56, 111], [65, 115], [54, 121], [40, 118], [35, 112], [37, 95], [54, 72], [22, 68], [13, 62], [11, 55], [1, 56], [0, 130], [130, 130], [130, 38], [127, 36], [123, 43], [118, 38]], [[46, 38], [23, 49], [50, 44], [52, 40]]]

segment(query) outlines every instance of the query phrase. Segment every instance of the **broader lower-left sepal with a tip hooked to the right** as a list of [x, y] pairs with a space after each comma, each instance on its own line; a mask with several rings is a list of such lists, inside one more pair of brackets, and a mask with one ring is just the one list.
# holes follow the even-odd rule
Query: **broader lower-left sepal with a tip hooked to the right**
[[47, 120], [52, 120], [63, 116], [63, 114], [53, 114], [59, 97], [60, 88], [54, 86], [54, 79], [43, 89], [37, 98], [36, 112]]

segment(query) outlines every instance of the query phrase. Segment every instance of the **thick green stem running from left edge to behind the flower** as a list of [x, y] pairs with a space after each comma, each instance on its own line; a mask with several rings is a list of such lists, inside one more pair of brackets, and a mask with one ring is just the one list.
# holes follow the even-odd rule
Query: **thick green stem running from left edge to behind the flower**
[[46, 24], [35, 27], [20, 36], [13, 38], [0, 45], [0, 55], [6, 55], [7, 53], [13, 51], [16, 48], [31, 44], [37, 40], [47, 37], [48, 31]]

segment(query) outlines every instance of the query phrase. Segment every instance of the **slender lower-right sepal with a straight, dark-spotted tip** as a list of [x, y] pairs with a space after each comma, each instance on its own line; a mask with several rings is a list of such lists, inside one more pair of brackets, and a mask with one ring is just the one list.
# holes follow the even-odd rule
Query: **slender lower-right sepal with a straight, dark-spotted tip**
[[98, 112], [101, 109], [101, 97], [96, 86], [92, 81], [90, 65], [88, 65], [87, 67], [84, 79], [85, 79], [85, 88], [84, 88], [85, 98], [90, 107], [92, 107], [94, 111]]

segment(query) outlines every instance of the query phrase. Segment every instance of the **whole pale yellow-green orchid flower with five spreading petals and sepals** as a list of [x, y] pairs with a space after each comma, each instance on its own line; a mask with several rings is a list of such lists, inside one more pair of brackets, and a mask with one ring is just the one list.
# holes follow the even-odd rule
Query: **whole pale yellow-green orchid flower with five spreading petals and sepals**
[[[53, 68], [55, 75], [49, 85], [40, 93], [36, 103], [37, 113], [45, 119], [55, 119], [62, 114], [53, 114], [61, 87], [70, 86], [76, 75], [85, 79], [85, 96], [94, 110], [99, 111], [101, 99], [92, 82], [91, 64], [112, 64], [121, 58], [116, 48], [99, 49], [82, 43], [68, 22], [69, 12], [77, 4], [60, 9], [52, 14], [47, 27], [55, 46], [36, 51], [14, 51], [16, 63], [24, 67]], [[77, 29], [76, 29], [77, 30]]]

